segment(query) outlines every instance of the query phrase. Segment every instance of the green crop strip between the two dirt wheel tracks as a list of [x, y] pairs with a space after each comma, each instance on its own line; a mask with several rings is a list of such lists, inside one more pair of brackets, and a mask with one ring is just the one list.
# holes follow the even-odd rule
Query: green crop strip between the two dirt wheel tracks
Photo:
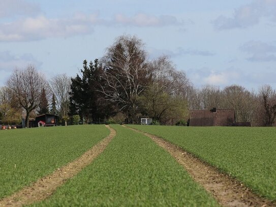
[[119, 125], [105, 151], [34, 206], [219, 206], [150, 138]]

